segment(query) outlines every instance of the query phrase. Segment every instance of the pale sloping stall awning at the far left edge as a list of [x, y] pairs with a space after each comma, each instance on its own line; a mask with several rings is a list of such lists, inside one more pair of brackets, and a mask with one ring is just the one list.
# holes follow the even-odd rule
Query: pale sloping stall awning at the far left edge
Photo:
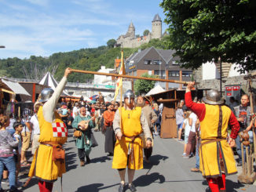
[[23, 86], [21, 86], [18, 82], [11, 82], [6, 79], [0, 80], [0, 89], [2, 92], [9, 92], [11, 94], [21, 94], [25, 96], [31, 96]]

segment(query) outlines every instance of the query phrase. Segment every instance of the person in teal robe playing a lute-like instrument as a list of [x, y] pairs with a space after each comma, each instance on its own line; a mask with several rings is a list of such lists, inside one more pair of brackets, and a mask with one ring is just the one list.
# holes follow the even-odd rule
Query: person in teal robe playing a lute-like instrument
[[90, 115], [86, 114], [86, 107], [82, 106], [80, 108], [80, 113], [75, 116], [72, 126], [82, 133], [81, 136], [77, 137], [75, 145], [79, 152], [80, 166], [84, 166], [85, 157], [86, 162], [90, 163], [89, 154], [92, 146], [90, 136], [93, 128], [93, 121]]

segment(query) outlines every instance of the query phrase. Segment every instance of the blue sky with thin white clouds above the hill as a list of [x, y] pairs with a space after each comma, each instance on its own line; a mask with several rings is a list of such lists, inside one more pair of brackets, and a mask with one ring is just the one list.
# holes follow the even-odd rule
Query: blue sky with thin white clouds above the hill
[[[107, 45], [132, 21], [135, 34], [165, 16], [163, 0], [0, 0], [0, 59], [50, 56]], [[167, 25], [163, 22], [163, 31]]]

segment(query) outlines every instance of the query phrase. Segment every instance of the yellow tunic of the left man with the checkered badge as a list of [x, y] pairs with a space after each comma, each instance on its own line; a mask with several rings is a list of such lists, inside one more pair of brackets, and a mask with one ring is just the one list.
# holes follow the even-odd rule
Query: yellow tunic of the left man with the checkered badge
[[[54, 114], [54, 123], [63, 123], [60, 115], [56, 112]], [[40, 137], [38, 141], [40, 143], [53, 142], [61, 145], [66, 143], [68, 139], [67, 135], [62, 134], [61, 136], [61, 134], [54, 132], [53, 123], [46, 121], [43, 117], [42, 107], [39, 107], [38, 110], [38, 122], [40, 127]], [[66, 172], [65, 162], [53, 161], [52, 155], [53, 147], [40, 144], [38, 150], [35, 152], [28, 176], [35, 176], [47, 182], [54, 182], [57, 180], [58, 176], [61, 177], [62, 174]]]

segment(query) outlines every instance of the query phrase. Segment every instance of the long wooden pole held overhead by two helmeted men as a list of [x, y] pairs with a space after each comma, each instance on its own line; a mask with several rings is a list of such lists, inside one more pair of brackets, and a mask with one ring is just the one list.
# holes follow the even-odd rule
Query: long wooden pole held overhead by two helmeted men
[[179, 84], [188, 84], [188, 82], [170, 80], [170, 79], [144, 78], [144, 77], [130, 76], [126, 74], [108, 74], [108, 73], [102, 73], [102, 72], [96, 72], [96, 71], [85, 71], [85, 70], [78, 70], [78, 69], [71, 69], [71, 72], [82, 73], [82, 74], [98, 74], [98, 75], [106, 75], [106, 76], [121, 77], [121, 78], [144, 79], [144, 80], [155, 81], [155, 82], [172, 82], [172, 83], [179, 83]]

